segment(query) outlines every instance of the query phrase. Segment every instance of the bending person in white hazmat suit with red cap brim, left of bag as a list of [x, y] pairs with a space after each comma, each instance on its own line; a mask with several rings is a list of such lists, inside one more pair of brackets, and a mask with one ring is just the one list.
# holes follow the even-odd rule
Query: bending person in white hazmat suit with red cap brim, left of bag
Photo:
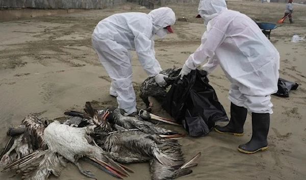
[[101, 64], [112, 79], [110, 95], [117, 97], [118, 108], [128, 114], [136, 112], [136, 95], [132, 85], [132, 54], [136, 50], [140, 64], [149, 77], [159, 86], [166, 81], [162, 68], [155, 58], [154, 37], [163, 38], [173, 33], [175, 23], [171, 8], [163, 7], [148, 14], [128, 12], [111, 15], [96, 25], [92, 33], [92, 45]]

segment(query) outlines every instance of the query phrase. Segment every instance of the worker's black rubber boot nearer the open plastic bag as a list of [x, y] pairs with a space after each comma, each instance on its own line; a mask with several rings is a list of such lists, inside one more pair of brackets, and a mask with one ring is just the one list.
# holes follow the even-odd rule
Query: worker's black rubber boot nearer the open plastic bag
[[247, 109], [231, 103], [231, 120], [226, 126], [216, 125], [215, 131], [221, 134], [243, 135], [243, 125], [246, 119]]

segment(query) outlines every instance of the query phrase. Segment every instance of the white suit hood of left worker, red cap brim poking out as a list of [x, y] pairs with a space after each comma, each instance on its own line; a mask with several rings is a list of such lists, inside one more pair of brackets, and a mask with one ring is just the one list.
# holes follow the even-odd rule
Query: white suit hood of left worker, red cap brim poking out
[[[175, 23], [175, 13], [171, 8], [163, 7], [152, 10], [148, 14], [153, 21], [153, 33], [163, 38], [167, 35], [167, 31], [173, 33], [171, 25]], [[164, 29], [166, 28], [166, 29]]]

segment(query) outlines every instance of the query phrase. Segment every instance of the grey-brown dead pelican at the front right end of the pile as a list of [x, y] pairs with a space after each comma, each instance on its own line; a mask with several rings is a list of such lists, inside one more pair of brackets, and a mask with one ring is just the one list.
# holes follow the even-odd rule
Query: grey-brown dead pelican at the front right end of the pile
[[188, 168], [197, 165], [194, 162], [200, 156], [198, 153], [186, 162], [181, 145], [176, 140], [163, 139], [138, 130], [112, 133], [101, 142], [101, 147], [108, 152], [118, 153], [120, 159], [115, 160], [119, 163], [149, 161], [152, 180], [174, 179], [189, 174], [192, 170]]

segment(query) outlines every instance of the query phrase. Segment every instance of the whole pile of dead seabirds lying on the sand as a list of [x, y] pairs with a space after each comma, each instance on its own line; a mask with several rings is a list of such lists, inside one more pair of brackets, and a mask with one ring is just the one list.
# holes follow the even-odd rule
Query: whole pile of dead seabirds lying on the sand
[[[22, 179], [43, 180], [60, 176], [68, 163], [82, 174], [95, 178], [79, 164], [82, 159], [117, 178], [134, 171], [124, 164], [150, 164], [151, 179], [174, 179], [192, 172], [197, 164], [186, 161], [176, 138], [185, 135], [153, 124], [148, 119], [171, 122], [146, 111], [127, 116], [122, 109], [93, 109], [86, 102], [84, 113], [65, 112], [65, 122], [25, 117], [18, 127], [10, 127], [0, 166], [2, 172], [22, 173]], [[172, 123], [173, 124], [173, 123]]]

